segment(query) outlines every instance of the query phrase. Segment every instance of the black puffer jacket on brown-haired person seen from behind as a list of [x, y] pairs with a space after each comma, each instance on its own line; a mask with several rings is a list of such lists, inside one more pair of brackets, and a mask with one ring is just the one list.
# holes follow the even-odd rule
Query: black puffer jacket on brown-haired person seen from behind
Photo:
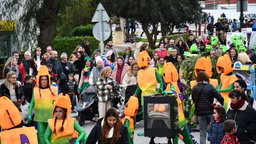
[[[199, 92], [203, 85], [205, 86], [199, 98]], [[212, 115], [213, 106], [211, 104], [213, 103], [214, 97], [223, 105], [224, 98], [213, 85], [209, 83], [198, 83], [193, 87], [192, 100], [195, 103], [195, 108], [197, 108], [198, 116]]]

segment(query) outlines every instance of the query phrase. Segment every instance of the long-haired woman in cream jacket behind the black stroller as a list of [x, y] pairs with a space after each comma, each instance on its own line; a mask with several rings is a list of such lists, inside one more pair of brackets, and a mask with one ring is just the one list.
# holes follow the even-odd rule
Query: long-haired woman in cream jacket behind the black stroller
[[138, 62], [132, 62], [130, 68], [125, 73], [122, 84], [126, 88], [128, 85], [136, 85], [137, 84], [137, 75], [139, 71]]

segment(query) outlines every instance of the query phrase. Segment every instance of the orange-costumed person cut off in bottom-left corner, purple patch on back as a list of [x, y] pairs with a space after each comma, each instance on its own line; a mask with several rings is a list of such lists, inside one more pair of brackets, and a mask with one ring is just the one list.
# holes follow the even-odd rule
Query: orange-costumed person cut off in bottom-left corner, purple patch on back
[[21, 113], [9, 98], [0, 97], [0, 144], [38, 144], [35, 127], [22, 127]]

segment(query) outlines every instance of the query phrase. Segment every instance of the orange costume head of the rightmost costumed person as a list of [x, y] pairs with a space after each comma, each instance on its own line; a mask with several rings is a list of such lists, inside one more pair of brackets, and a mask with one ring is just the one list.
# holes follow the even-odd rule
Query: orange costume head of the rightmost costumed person
[[218, 73], [221, 73], [221, 68], [224, 68], [224, 75], [231, 73], [233, 71], [233, 67], [231, 66], [232, 62], [228, 55], [224, 55], [218, 58], [216, 69]]

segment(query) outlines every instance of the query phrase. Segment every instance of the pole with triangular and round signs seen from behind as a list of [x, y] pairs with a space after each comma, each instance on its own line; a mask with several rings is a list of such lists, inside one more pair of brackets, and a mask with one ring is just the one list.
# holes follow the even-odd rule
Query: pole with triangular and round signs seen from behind
[[108, 25], [108, 23], [105, 22], [109, 20], [110, 18], [106, 10], [102, 6], [102, 4], [99, 3], [92, 17], [92, 22], [98, 22], [94, 24], [92, 33], [97, 40], [101, 41], [101, 56], [103, 55], [103, 52], [104, 52], [103, 40], [107, 40], [111, 32], [110, 26]]

